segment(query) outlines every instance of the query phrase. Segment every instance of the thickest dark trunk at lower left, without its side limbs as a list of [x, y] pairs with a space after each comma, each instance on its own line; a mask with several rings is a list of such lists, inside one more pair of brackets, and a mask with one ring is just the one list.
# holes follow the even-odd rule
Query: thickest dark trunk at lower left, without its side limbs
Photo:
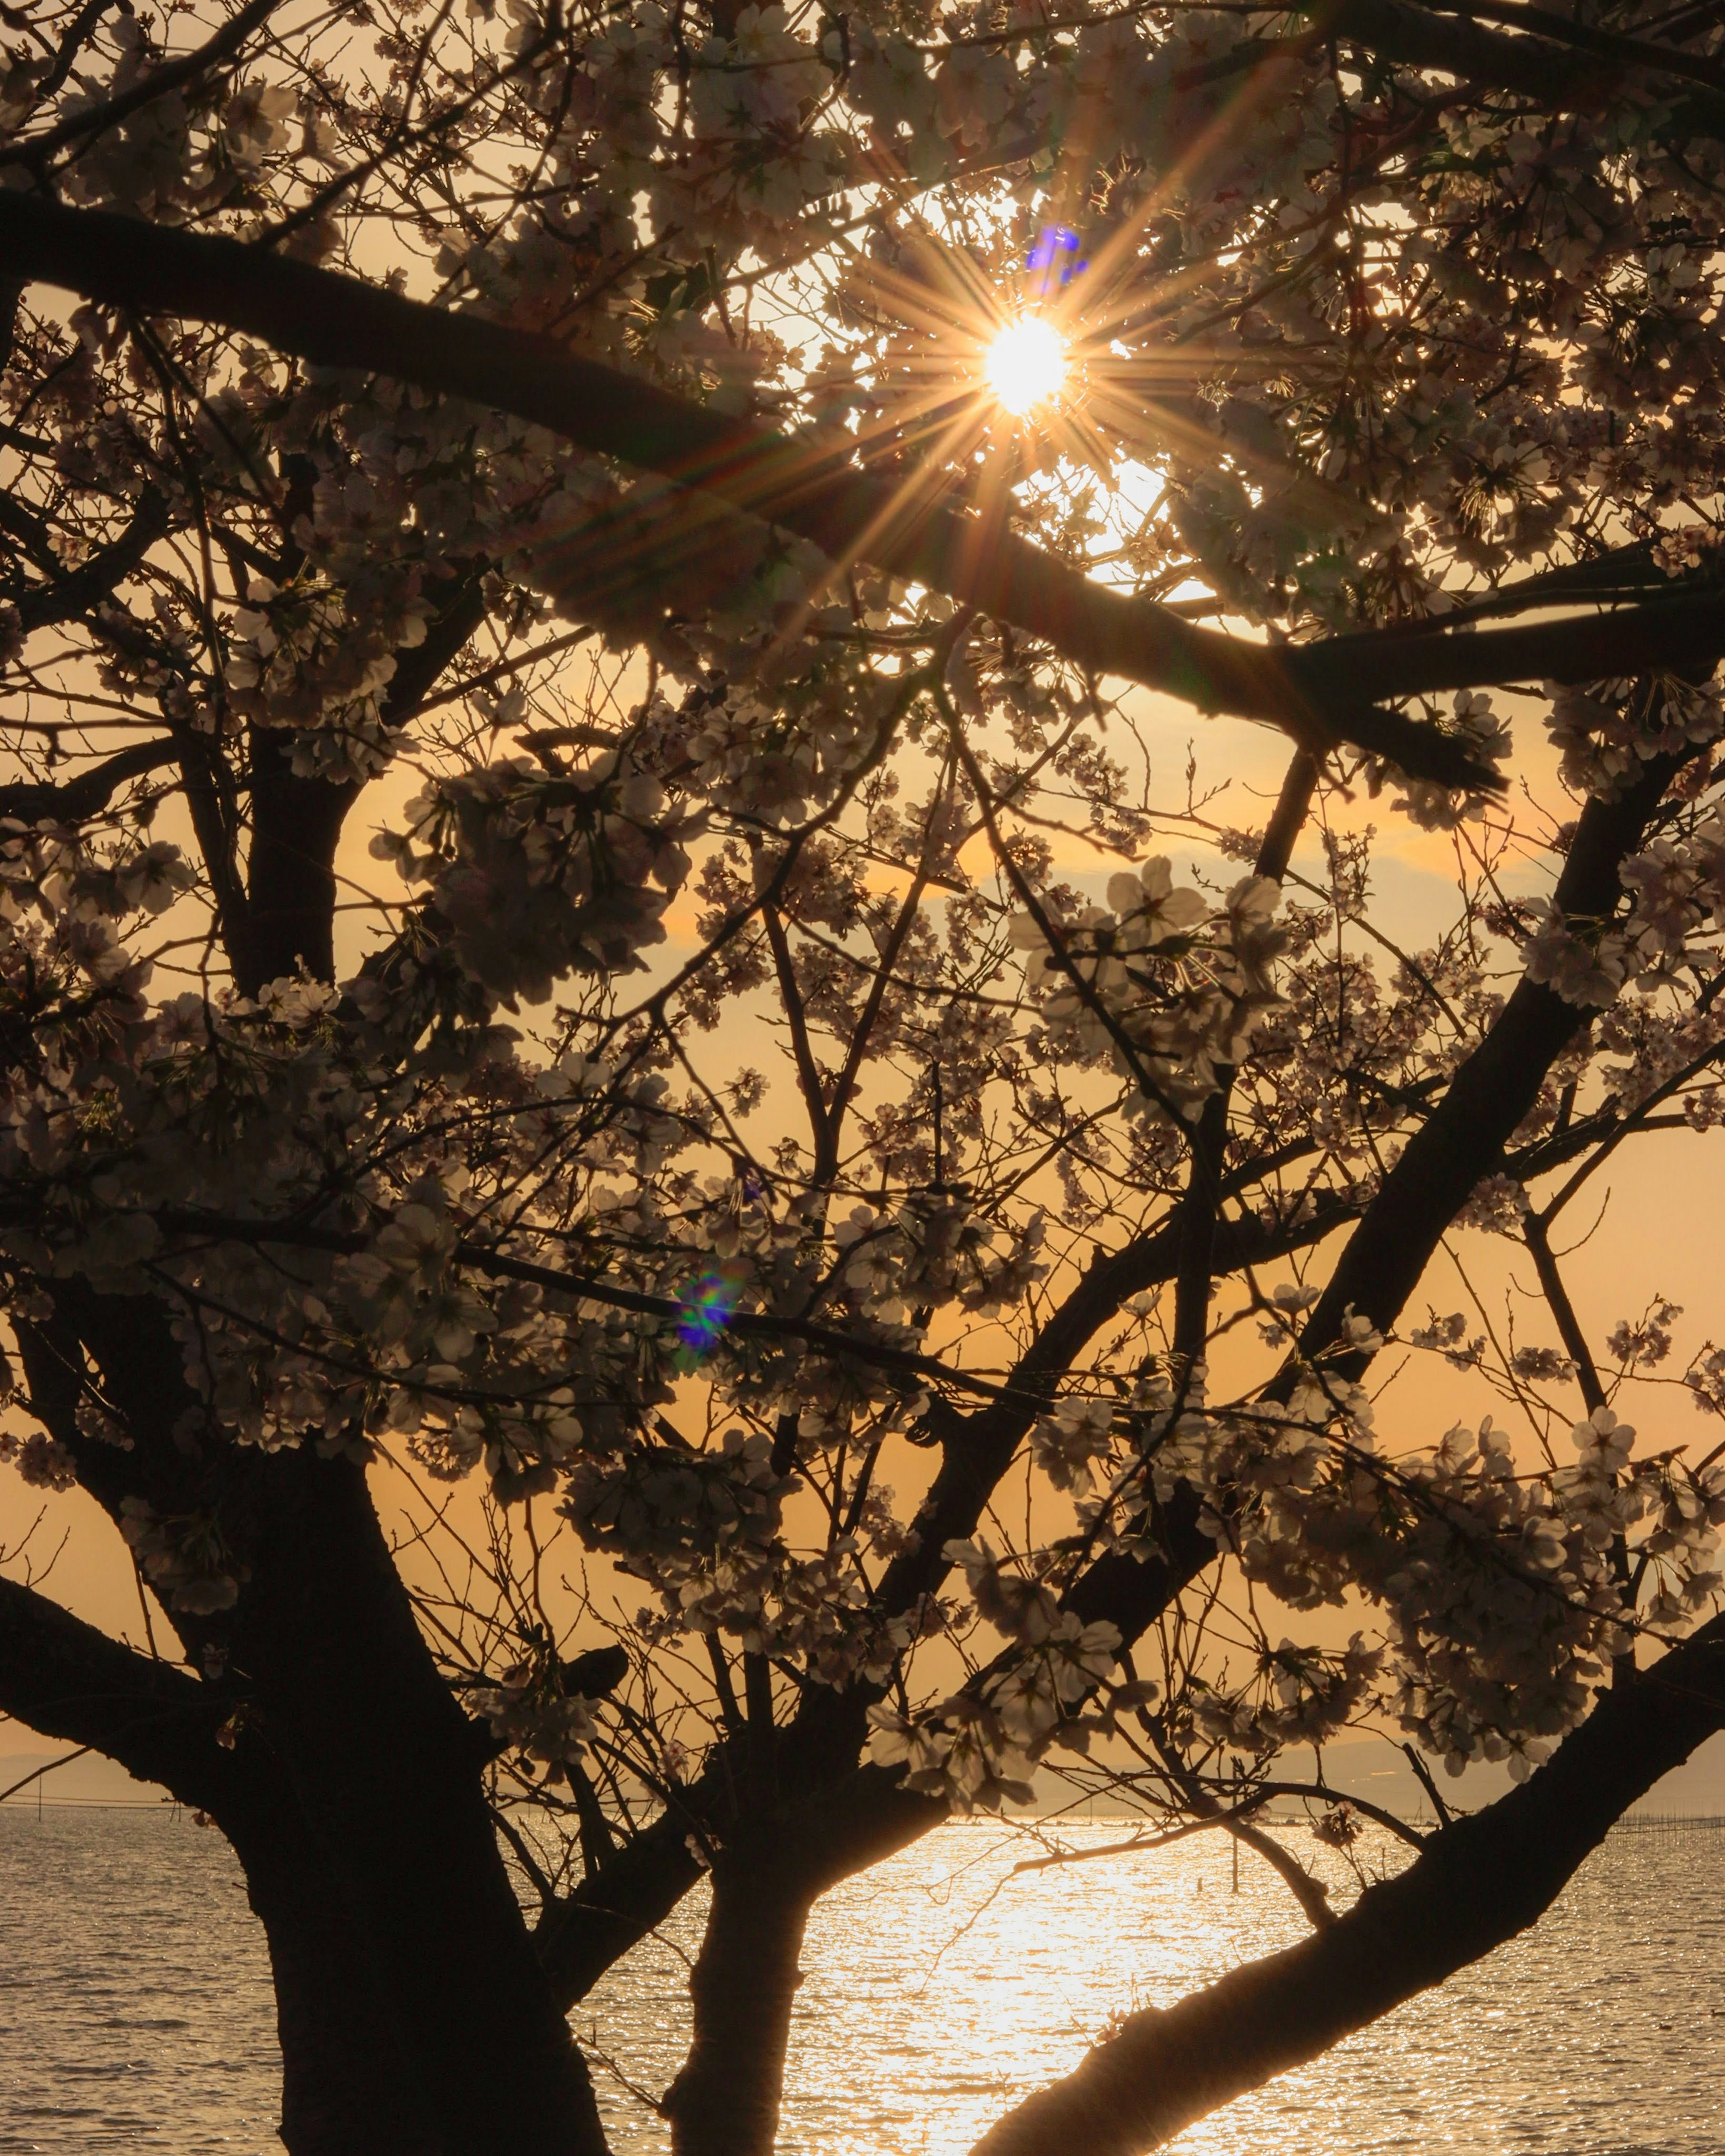
[[304, 1822], [293, 1850], [272, 1837], [254, 1882], [278, 1979], [285, 2139], [295, 2156], [380, 2145], [375, 2059], [360, 2078], [347, 2048], [328, 2053], [334, 1984], [367, 1999], [392, 2068], [384, 2147], [597, 2156], [586, 2068], [498, 1856], [483, 1744], [425, 1651], [364, 1477], [306, 1453], [276, 1466], [235, 1658], [257, 1682], [254, 1742]]

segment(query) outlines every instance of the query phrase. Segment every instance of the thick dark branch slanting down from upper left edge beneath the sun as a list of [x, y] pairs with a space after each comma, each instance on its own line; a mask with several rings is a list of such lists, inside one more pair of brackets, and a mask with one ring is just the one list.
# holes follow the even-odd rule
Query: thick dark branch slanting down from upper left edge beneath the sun
[[[477, 315], [397, 298], [233, 239], [0, 192], [0, 248], [15, 274], [95, 300], [248, 330], [319, 367], [377, 369], [513, 412], [599, 455], [720, 496], [802, 533], [834, 561], [867, 558], [1046, 638], [1067, 658], [1210, 711], [1348, 740], [1449, 785], [1496, 785], [1434, 727], [1374, 711], [1358, 675], [1313, 701], [1281, 651], [1199, 630], [1091, 584], [1009, 530], [912, 502], [850, 466], [850, 442], [770, 433], [671, 397], [567, 347]], [[591, 554], [591, 533], [582, 539]], [[671, 604], [666, 599], [666, 604]]]

